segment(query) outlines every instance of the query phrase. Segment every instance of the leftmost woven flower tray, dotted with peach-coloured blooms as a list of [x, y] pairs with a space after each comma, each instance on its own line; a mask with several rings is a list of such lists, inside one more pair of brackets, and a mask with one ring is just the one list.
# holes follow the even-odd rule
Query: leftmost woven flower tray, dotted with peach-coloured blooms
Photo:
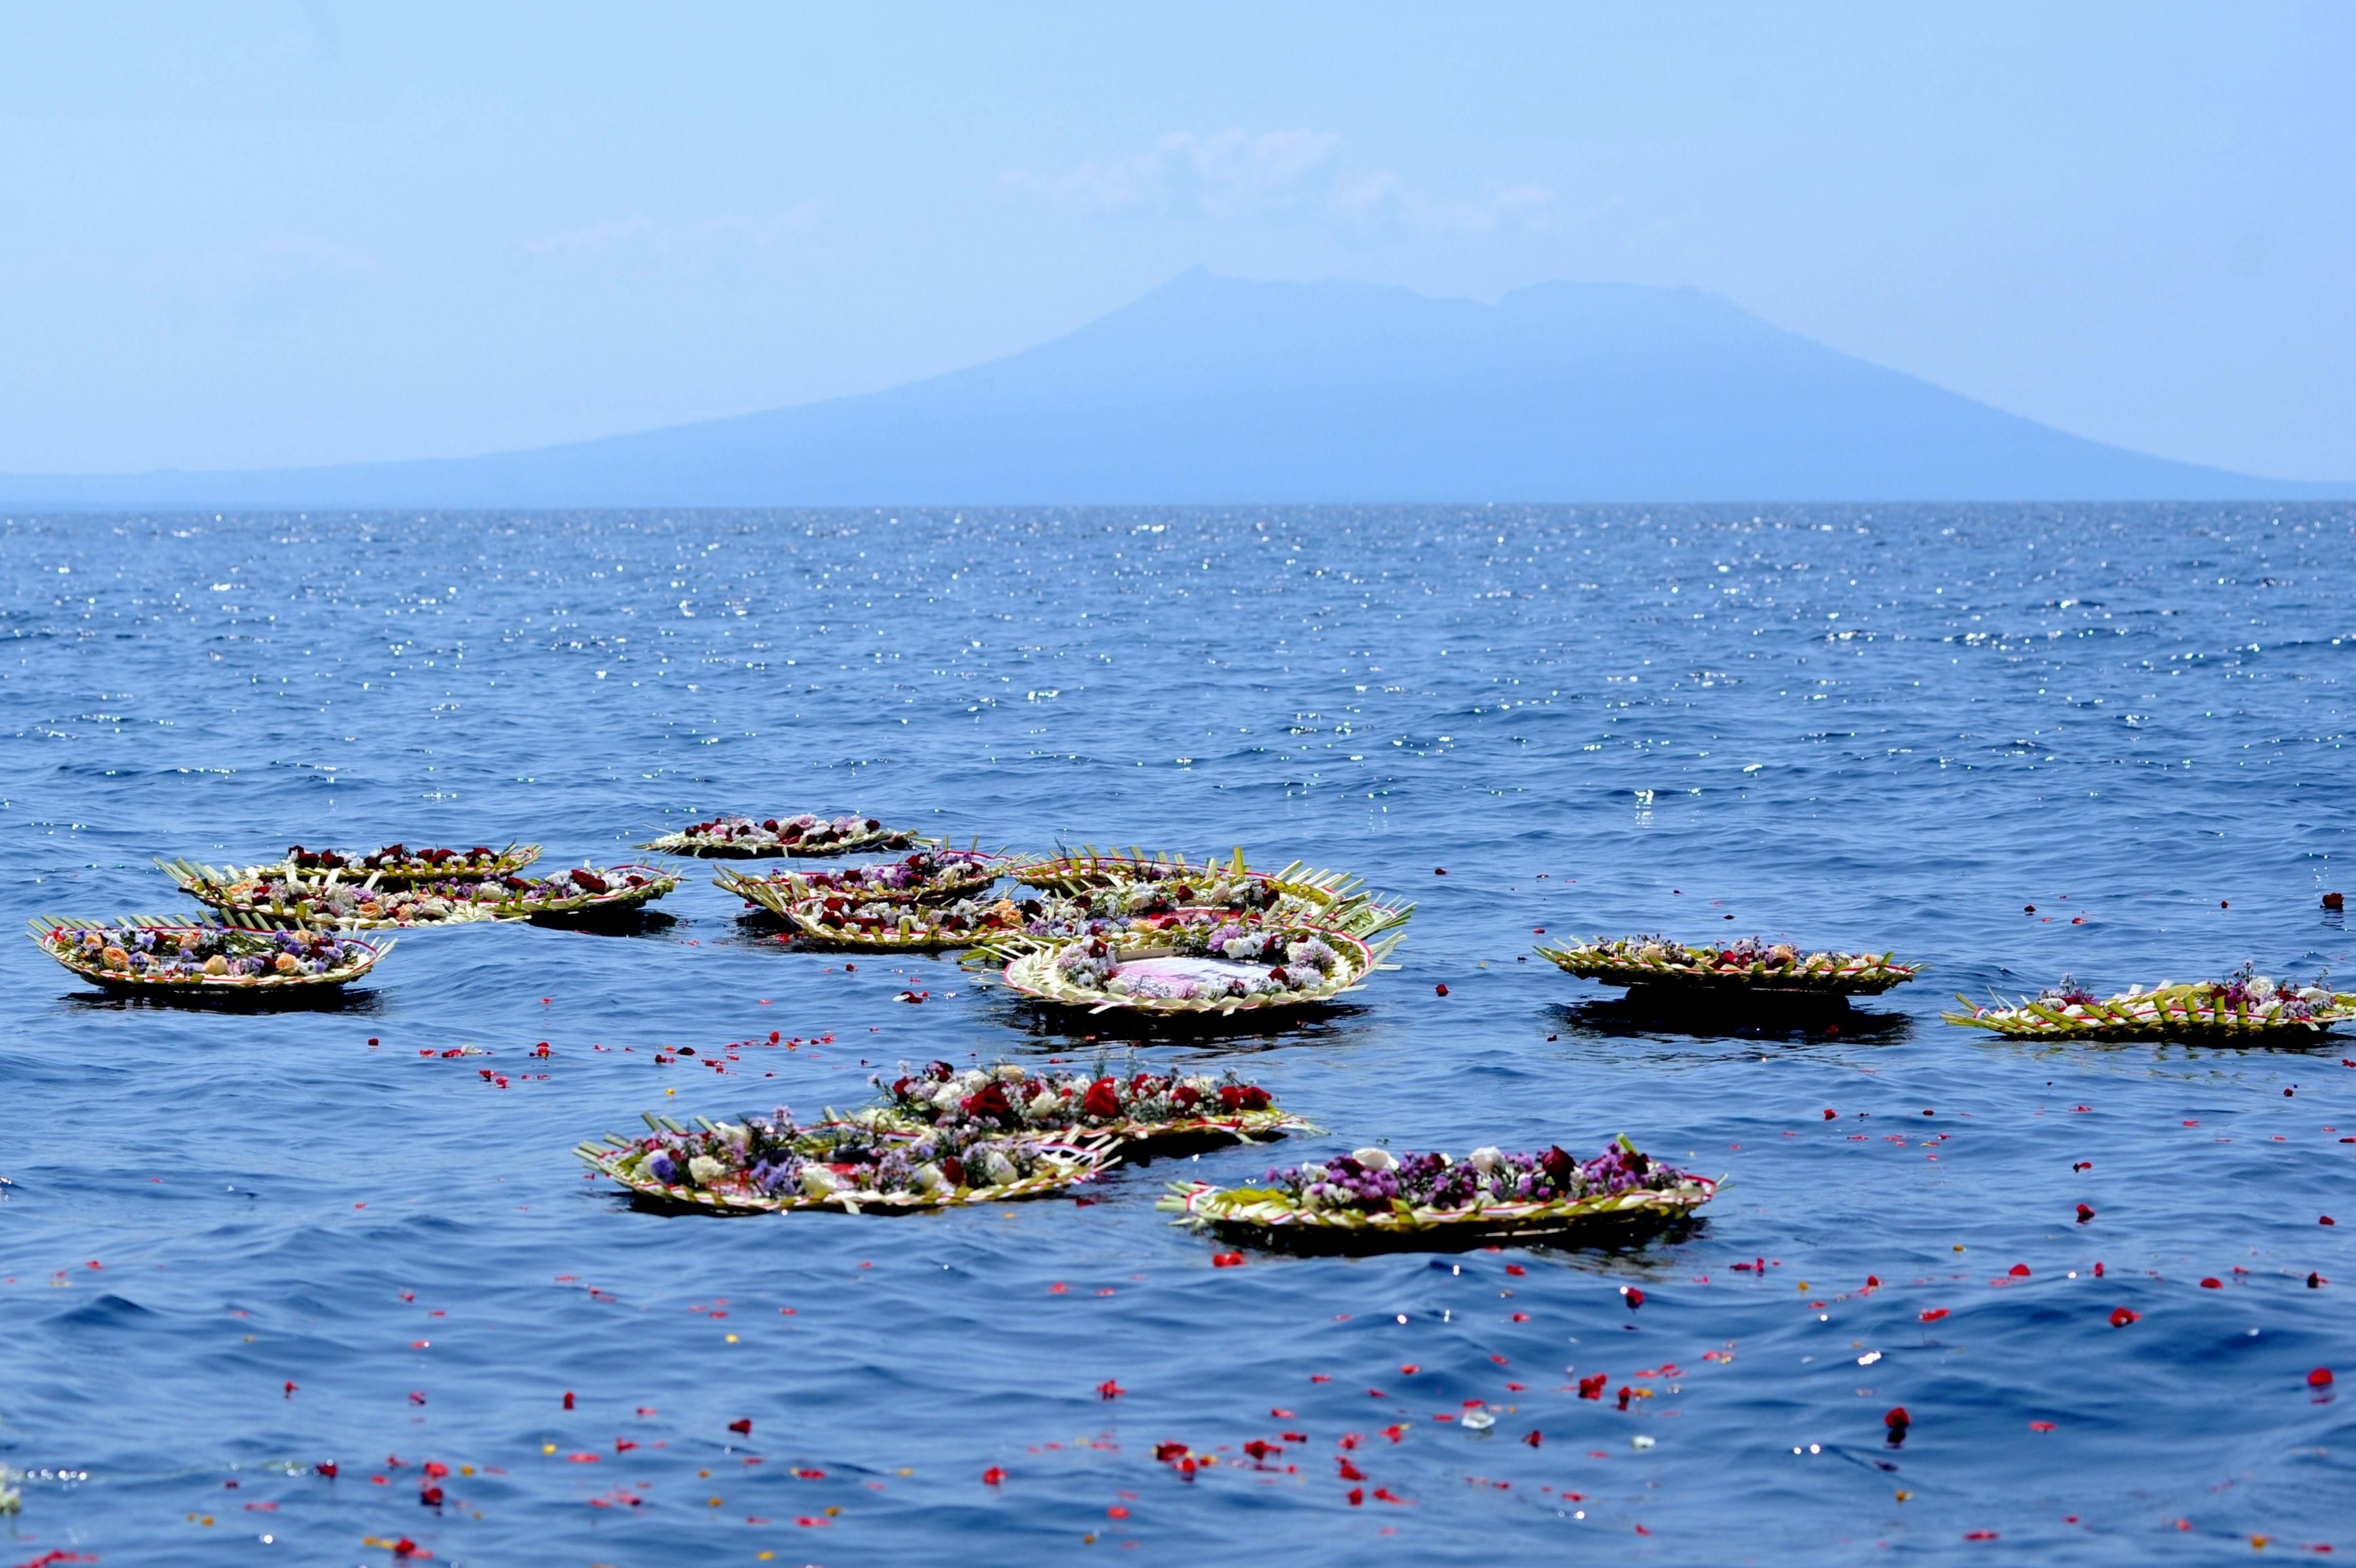
[[238, 930], [132, 916], [120, 925], [40, 916], [33, 939], [61, 965], [111, 991], [243, 994], [344, 986], [377, 968], [391, 942], [325, 932]]

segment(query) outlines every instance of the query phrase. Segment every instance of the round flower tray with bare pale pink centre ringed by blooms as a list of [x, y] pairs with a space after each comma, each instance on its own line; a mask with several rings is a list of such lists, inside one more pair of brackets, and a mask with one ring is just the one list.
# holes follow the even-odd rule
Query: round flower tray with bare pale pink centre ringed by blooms
[[1333, 1001], [1390, 956], [1399, 937], [1374, 946], [1317, 925], [1171, 923], [1119, 937], [1044, 942], [1004, 970], [1015, 991], [1105, 1012], [1239, 1012]]

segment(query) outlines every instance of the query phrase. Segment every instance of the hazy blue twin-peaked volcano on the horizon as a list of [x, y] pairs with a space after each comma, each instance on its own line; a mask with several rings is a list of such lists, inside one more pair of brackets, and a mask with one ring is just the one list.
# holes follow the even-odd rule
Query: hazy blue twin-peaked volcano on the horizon
[[490, 457], [0, 476], [19, 506], [2309, 499], [1998, 412], [1713, 294], [1494, 306], [1185, 273], [1070, 337], [860, 398]]

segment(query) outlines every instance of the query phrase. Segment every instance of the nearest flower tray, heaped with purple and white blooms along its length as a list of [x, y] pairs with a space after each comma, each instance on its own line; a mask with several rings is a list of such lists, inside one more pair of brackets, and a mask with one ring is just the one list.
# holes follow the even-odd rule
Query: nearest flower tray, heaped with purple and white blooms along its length
[[1157, 1208], [1176, 1212], [1176, 1224], [1303, 1248], [1480, 1245], [1675, 1220], [1715, 1191], [1710, 1177], [1673, 1170], [1621, 1137], [1593, 1161], [1562, 1149], [1475, 1149], [1461, 1161], [1357, 1149], [1270, 1170], [1263, 1187], [1173, 1182]]

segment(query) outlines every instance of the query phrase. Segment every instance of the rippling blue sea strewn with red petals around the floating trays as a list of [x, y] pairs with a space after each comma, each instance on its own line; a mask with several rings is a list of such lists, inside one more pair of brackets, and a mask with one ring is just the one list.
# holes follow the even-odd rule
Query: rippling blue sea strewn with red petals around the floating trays
[[[1416, 902], [1355, 1005], [1187, 1041], [792, 951], [707, 866], [627, 937], [403, 935], [339, 1010], [9, 942], [0, 1568], [2356, 1549], [2356, 1038], [1939, 1022], [2356, 975], [2356, 509], [16, 516], [0, 572], [12, 921], [193, 911], [155, 855], [796, 810]], [[1635, 930], [1930, 970], [1710, 1034], [1529, 958]], [[1326, 1132], [905, 1220], [636, 1212], [570, 1154], [931, 1057], [1235, 1069]], [[1692, 1234], [1213, 1269], [1152, 1208], [1619, 1132], [1727, 1177]]]

